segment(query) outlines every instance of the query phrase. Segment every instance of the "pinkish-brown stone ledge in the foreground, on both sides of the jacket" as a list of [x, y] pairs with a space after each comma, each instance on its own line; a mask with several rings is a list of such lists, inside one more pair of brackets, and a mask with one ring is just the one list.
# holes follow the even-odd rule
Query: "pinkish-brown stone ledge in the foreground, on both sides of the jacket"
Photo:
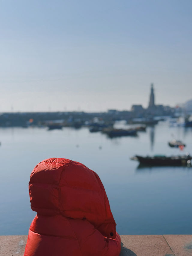
[[[120, 256], [192, 256], [192, 235], [122, 235]], [[23, 256], [27, 236], [0, 236], [0, 256]]]

